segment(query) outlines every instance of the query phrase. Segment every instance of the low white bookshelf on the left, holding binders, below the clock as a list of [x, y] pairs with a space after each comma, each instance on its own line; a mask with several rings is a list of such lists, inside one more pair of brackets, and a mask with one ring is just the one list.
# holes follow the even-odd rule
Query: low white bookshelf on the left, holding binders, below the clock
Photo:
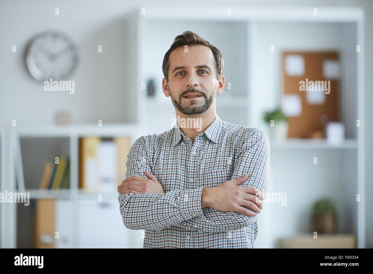
[[[79, 225], [83, 226], [84, 224], [79, 223], [81, 218], [84, 218], [85, 212], [87, 212], [88, 206], [97, 207], [98, 212], [104, 216], [110, 215], [115, 216], [120, 220], [119, 204], [117, 201], [118, 193], [114, 191], [90, 191], [85, 189], [79, 189], [79, 150], [78, 150], [78, 141], [79, 138], [84, 136], [98, 136], [98, 137], [116, 137], [116, 136], [125, 136], [130, 138], [131, 144], [140, 137], [138, 135], [138, 129], [135, 124], [103, 124], [102, 127], [98, 127], [96, 124], [83, 124], [83, 125], [71, 125], [71, 126], [22, 126], [17, 125], [16, 127], [2, 127], [1, 136], [8, 133], [12, 136], [13, 142], [20, 143], [22, 151], [22, 166], [23, 173], [25, 176], [25, 190], [22, 192], [29, 193], [30, 205], [23, 206], [23, 204], [6, 204], [9, 209], [12, 209], [18, 214], [18, 218], [10, 218], [10, 215], [4, 216], [1, 214], [1, 224], [2, 224], [2, 235], [7, 235], [11, 232], [7, 231], [10, 229], [10, 224], [17, 227], [13, 230], [15, 234], [13, 237], [17, 239], [16, 247], [25, 247], [29, 248], [33, 245], [31, 241], [31, 232], [30, 227], [32, 227], [32, 207], [35, 207], [35, 199], [56, 199], [57, 201], [68, 201], [66, 207], [69, 208], [67, 212], [66, 222], [69, 224], [70, 229], [66, 234], [65, 239], [65, 248], [79, 248], [82, 246], [82, 242], [78, 239], [81, 239], [81, 232], [79, 230]], [[3, 140], [3, 138], [1, 138]], [[1, 142], [1, 145], [4, 146], [4, 142]], [[44, 148], [44, 149], [40, 149]], [[1, 152], [4, 152], [1, 149]], [[6, 152], [6, 151], [5, 151]], [[10, 152], [10, 151], [8, 151]], [[2, 153], [4, 154], [4, 153]], [[40, 183], [40, 174], [42, 173], [41, 163], [44, 160], [50, 159], [54, 161], [56, 155], [64, 154], [70, 159], [70, 186], [68, 189], [38, 189]], [[6, 158], [7, 156], [3, 156]], [[3, 159], [1, 157], [0, 159]], [[10, 158], [11, 155], [9, 155]], [[13, 159], [14, 160], [14, 159]], [[1, 161], [1, 165], [4, 166], [4, 161]], [[15, 167], [13, 167], [15, 170]], [[1, 173], [2, 175], [4, 173]], [[1, 181], [2, 184], [4, 180]], [[18, 190], [18, 180], [16, 177], [13, 179], [12, 188], [9, 186], [6, 189], [15, 189]], [[2, 188], [3, 189], [3, 188]], [[5, 188], [4, 188], [5, 189]], [[8, 190], [8, 192], [10, 192]], [[97, 202], [97, 195], [102, 195], [102, 202]], [[85, 202], [84, 202], [85, 201]], [[81, 207], [85, 208], [85, 211], [78, 210]], [[4, 207], [1, 206], [1, 213], [3, 213]], [[57, 212], [57, 211], [56, 211]], [[80, 215], [79, 215], [80, 214]], [[66, 212], [65, 212], [66, 215]], [[6, 218], [9, 218], [10, 222], [6, 221]], [[19, 219], [22, 218], [23, 222], [28, 225], [21, 226]], [[5, 226], [3, 224], [8, 224]], [[92, 221], [91, 221], [92, 223]], [[118, 227], [118, 223], [116, 223]], [[123, 234], [131, 233], [131, 230], [126, 229], [123, 224], [119, 223], [120, 229], [122, 229]], [[102, 229], [102, 227], [101, 227]], [[124, 233], [125, 232], [125, 233]], [[80, 235], [80, 236], [79, 236]], [[128, 234], [129, 235], [129, 234]], [[3, 238], [2, 238], [3, 239]], [[74, 240], [75, 239], [75, 240]], [[85, 239], [85, 238], [84, 238]], [[63, 240], [60, 238], [59, 240]], [[127, 241], [127, 243], [124, 242]], [[118, 241], [122, 246], [129, 244], [131, 240], [130, 236], [125, 237], [122, 241]], [[20, 244], [20, 242], [22, 244]], [[87, 241], [86, 241], [87, 242]], [[8, 242], [1, 241], [3, 245], [9, 245]], [[14, 243], [15, 244], [15, 243]], [[99, 247], [107, 246], [106, 243], [101, 240], [98, 243]], [[115, 244], [115, 243], [113, 243]], [[60, 244], [57, 244], [59, 246]], [[119, 246], [117, 246], [119, 247]]]

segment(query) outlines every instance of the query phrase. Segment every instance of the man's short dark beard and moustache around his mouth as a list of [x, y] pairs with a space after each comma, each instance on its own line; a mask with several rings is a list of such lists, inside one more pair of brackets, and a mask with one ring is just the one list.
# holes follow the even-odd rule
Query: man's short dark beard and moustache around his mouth
[[[214, 88], [213, 92], [211, 92], [211, 95], [209, 98], [206, 97], [206, 94], [198, 89], [189, 88], [186, 91], [182, 92], [182, 94], [179, 95], [178, 100], [173, 96], [171, 89], [169, 89], [169, 94], [171, 97], [171, 101], [173, 106], [180, 111], [182, 114], [185, 115], [196, 115], [204, 113], [206, 110], [210, 108], [210, 106], [215, 102], [216, 99], [216, 90], [217, 85]], [[204, 103], [203, 104], [197, 104], [197, 100], [200, 100], [200, 98], [196, 100], [188, 100], [185, 103], [182, 103], [183, 96], [185, 96], [188, 93], [197, 93], [198, 95], [203, 96]], [[184, 100], [185, 101], [185, 100]]]

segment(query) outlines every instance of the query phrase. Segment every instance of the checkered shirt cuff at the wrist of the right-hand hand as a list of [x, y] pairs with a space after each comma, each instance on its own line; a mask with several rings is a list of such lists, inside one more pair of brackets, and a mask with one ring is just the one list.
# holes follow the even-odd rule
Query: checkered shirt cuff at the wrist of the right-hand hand
[[181, 190], [179, 195], [180, 214], [184, 220], [203, 215], [201, 196], [203, 188]]

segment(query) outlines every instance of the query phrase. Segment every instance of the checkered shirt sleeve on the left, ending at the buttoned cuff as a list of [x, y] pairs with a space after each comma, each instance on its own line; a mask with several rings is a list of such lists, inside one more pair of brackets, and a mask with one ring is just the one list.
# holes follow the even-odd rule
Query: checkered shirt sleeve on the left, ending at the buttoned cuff
[[[152, 160], [147, 153], [143, 137], [131, 146], [127, 155], [126, 178], [152, 173]], [[129, 229], [160, 231], [203, 214], [201, 195], [203, 188], [171, 190], [167, 193], [119, 193], [119, 209], [123, 224]]]

